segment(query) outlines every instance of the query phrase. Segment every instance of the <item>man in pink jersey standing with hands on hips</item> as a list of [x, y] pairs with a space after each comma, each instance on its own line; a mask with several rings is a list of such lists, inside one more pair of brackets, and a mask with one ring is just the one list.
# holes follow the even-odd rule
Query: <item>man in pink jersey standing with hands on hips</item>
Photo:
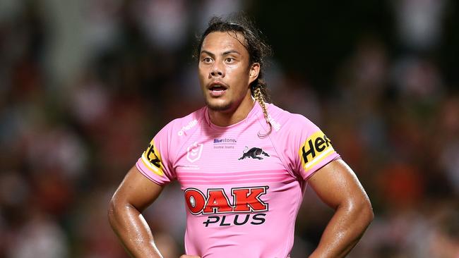
[[197, 51], [206, 105], [155, 135], [110, 203], [133, 257], [162, 257], [141, 212], [171, 180], [186, 200], [182, 258], [289, 257], [307, 185], [335, 209], [310, 257], [344, 257], [362, 237], [373, 212], [352, 170], [314, 123], [264, 102], [268, 49], [246, 21], [210, 20]]

